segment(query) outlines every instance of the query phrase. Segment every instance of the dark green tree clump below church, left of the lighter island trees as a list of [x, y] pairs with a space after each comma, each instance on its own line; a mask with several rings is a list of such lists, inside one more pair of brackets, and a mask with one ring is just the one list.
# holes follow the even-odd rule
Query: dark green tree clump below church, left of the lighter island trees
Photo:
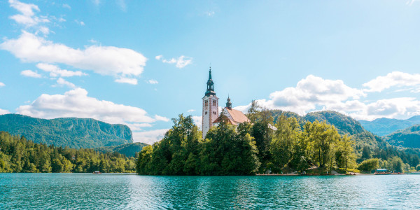
[[258, 169], [255, 141], [241, 125], [239, 132], [222, 120], [207, 139], [191, 116], [173, 119], [174, 126], [162, 141], [139, 153], [137, 173], [163, 175], [246, 175]]

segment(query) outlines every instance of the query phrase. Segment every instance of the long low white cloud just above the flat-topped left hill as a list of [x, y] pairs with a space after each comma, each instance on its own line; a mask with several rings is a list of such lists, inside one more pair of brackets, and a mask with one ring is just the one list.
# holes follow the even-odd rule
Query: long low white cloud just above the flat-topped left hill
[[146, 111], [134, 106], [114, 104], [87, 96], [83, 88], [64, 94], [41, 94], [29, 105], [16, 109], [18, 113], [36, 118], [94, 118], [107, 123], [153, 123], [160, 118], [148, 116]]

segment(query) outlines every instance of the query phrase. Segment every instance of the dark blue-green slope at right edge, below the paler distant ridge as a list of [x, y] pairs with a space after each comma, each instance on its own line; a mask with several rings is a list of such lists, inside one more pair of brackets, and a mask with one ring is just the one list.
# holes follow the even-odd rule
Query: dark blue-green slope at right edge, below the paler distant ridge
[[398, 130], [388, 134], [384, 139], [393, 146], [420, 148], [420, 125], [413, 125], [405, 130]]

